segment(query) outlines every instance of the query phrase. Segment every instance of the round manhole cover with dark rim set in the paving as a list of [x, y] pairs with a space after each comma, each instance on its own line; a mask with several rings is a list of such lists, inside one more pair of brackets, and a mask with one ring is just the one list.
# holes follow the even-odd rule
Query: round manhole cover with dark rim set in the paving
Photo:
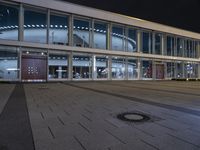
[[140, 113], [122, 113], [117, 115], [117, 118], [123, 121], [130, 121], [130, 122], [143, 122], [150, 119], [150, 117], [140, 114]]

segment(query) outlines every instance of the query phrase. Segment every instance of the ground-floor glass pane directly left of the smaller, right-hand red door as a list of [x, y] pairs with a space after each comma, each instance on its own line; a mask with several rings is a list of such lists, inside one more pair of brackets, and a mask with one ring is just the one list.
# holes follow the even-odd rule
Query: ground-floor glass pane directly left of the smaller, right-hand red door
[[152, 78], [152, 61], [151, 60], [142, 61], [142, 77]]

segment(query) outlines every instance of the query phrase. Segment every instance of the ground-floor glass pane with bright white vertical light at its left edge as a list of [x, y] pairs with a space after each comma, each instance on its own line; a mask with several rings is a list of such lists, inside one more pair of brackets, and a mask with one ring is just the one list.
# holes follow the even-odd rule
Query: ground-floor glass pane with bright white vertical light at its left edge
[[97, 79], [107, 79], [108, 78], [108, 57], [107, 56], [96, 56], [95, 57], [95, 72], [94, 78]]

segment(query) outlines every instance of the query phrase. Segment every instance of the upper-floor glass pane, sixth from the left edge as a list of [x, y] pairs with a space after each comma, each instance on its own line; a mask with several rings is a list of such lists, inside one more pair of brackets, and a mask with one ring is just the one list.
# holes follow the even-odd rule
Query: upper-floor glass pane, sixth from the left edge
[[112, 27], [112, 49], [124, 51], [124, 29], [122, 27]]

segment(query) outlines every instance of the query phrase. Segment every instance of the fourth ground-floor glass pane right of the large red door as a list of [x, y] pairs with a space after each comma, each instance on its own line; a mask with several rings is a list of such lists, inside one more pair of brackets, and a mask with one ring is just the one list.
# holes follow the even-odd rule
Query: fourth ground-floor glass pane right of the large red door
[[125, 59], [112, 57], [112, 79], [125, 78]]

